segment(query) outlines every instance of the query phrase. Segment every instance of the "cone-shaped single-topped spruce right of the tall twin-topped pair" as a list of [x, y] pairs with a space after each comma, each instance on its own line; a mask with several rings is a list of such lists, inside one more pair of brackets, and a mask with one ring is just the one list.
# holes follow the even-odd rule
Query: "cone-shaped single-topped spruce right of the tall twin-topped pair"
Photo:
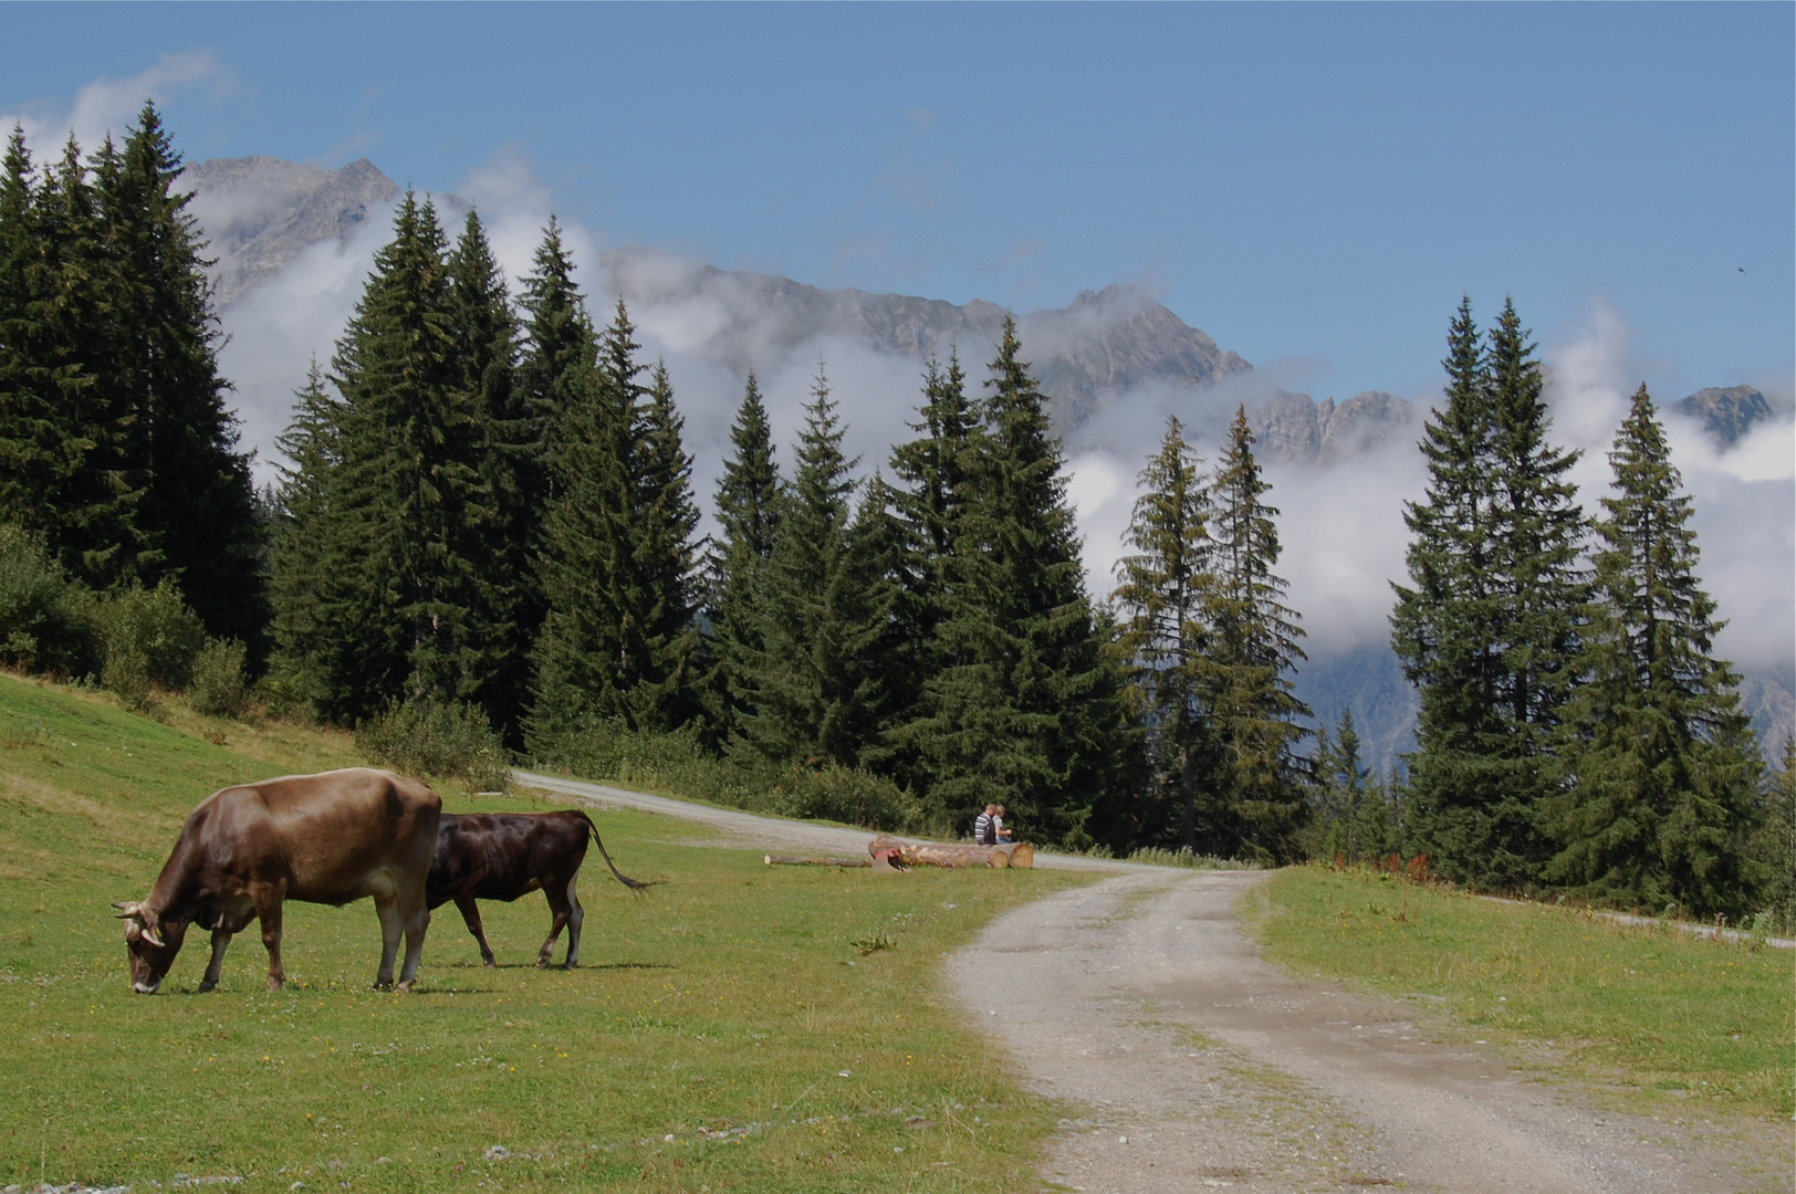
[[1749, 856], [1762, 759], [1739, 677], [1713, 654], [1724, 623], [1695, 576], [1690, 497], [1645, 386], [1609, 463], [1589, 675], [1568, 707], [1548, 874], [1654, 912], [1739, 916], [1764, 878]]

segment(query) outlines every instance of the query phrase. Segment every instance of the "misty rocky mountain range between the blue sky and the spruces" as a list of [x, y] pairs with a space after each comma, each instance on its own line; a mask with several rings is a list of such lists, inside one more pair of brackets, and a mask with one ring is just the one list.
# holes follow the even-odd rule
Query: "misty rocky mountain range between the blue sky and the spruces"
[[[189, 167], [187, 180], [196, 192], [190, 210], [217, 259], [212, 275], [232, 336], [221, 354], [224, 372], [237, 382], [244, 435], [262, 452], [266, 476], [291, 391], [304, 381], [307, 357], [329, 361], [368, 262], [388, 237], [399, 187], [366, 158], [339, 171], [224, 158]], [[548, 215], [541, 196], [494, 190], [472, 198], [508, 273], [528, 273]], [[445, 223], [467, 210], [454, 196], [435, 201]], [[848, 447], [871, 472], [891, 443], [909, 436], [921, 361], [957, 352], [977, 386], [1006, 316], [982, 300], [959, 305], [832, 291], [652, 248], [607, 248], [585, 230], [568, 232], [594, 311], [603, 314], [611, 296], [623, 294], [647, 350], [668, 361], [697, 458], [693, 483], [706, 505], [749, 368], [760, 373], [787, 443], [821, 363], [851, 422]], [[1281, 571], [1309, 628], [1311, 661], [1299, 673], [1299, 695], [1329, 725], [1351, 706], [1376, 765], [1408, 749], [1413, 693], [1388, 650], [1385, 616], [1388, 578], [1403, 576], [1403, 501], [1419, 496], [1424, 481], [1415, 442], [1433, 395], [1372, 390], [1316, 400], [1291, 393], [1128, 285], [1020, 314], [1018, 332], [1065, 438], [1094, 593], [1110, 591], [1133, 476], [1167, 415], [1176, 413], [1214, 456], [1236, 406], [1246, 406], [1255, 451], [1275, 487], [1272, 499], [1284, 510]], [[1588, 431], [1575, 445], [1586, 451], [1589, 470], [1580, 485], [1591, 510], [1607, 483], [1604, 452], [1631, 384], [1620, 375], [1591, 381], [1579, 361], [1575, 354], [1563, 363], [1548, 357], [1548, 391], [1566, 415], [1561, 427]], [[1735, 619], [1722, 650], [1748, 675], [1742, 691], [1760, 733], [1782, 742], [1796, 731], [1789, 567], [1776, 575], [1792, 555], [1782, 497], [1791, 490], [1787, 402], [1751, 386], [1708, 388], [1677, 402], [1663, 395], [1661, 402], [1697, 496], [1704, 580]], [[1742, 465], [1774, 461], [1778, 452], [1782, 472]], [[1765, 501], [1785, 501], [1769, 524]]]

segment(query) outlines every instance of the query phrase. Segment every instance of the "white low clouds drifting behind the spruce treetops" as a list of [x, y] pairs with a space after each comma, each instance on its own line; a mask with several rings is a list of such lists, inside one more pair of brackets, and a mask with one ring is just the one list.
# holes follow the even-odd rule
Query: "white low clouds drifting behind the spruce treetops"
[[[548, 190], [515, 156], [501, 153], [463, 180], [456, 194], [478, 205], [512, 291], [521, 293], [550, 215]], [[454, 235], [463, 201], [440, 198], [438, 206]], [[313, 246], [224, 311], [230, 343], [223, 366], [237, 382], [246, 442], [262, 452], [262, 476], [307, 359], [318, 354], [329, 361], [390, 228], [390, 210], [370, 212], [350, 241]], [[912, 435], [921, 399], [916, 357], [871, 348], [850, 336], [803, 336], [788, 316], [760, 303], [740, 275], [720, 275], [665, 251], [620, 251], [602, 230], [580, 224], [564, 224], [564, 241], [594, 320], [609, 321], [612, 300], [623, 293], [645, 361], [668, 363], [686, 418], [688, 451], [695, 456], [693, 483], [706, 508], [729, 452], [729, 424], [751, 366], [769, 406], [781, 467], [792, 465], [790, 445], [819, 363], [848, 422], [846, 449], [858, 456], [862, 476], [882, 469], [891, 445]], [[1442, 332], [1444, 327], [1446, 314]], [[1586, 510], [1595, 512], [1609, 487], [1606, 454], [1640, 381], [1654, 382], [1663, 406], [1695, 386], [1663, 381], [1663, 366], [1640, 354], [1638, 336], [1606, 302], [1593, 302], [1580, 323], [1543, 336], [1543, 343], [1554, 436], [1582, 449], [1575, 476]], [[1024, 356], [1040, 350], [1042, 345], [1024, 345]], [[961, 341], [959, 354], [977, 393], [991, 345]], [[1735, 381], [1706, 379], [1706, 384]], [[1275, 391], [1266, 375], [1252, 372], [1198, 391], [1137, 386], [1069, 435], [1069, 497], [1094, 594], [1108, 596], [1114, 587], [1112, 567], [1135, 501], [1135, 476], [1158, 447], [1167, 415], [1176, 413], [1187, 424], [1214, 465], [1236, 406], [1252, 411]], [[1343, 659], [1388, 641], [1390, 582], [1404, 578], [1403, 506], [1421, 497], [1426, 483], [1415, 442], [1439, 388], [1399, 397], [1408, 399], [1412, 422], [1397, 424], [1381, 442], [1324, 460], [1266, 461], [1273, 485], [1268, 499], [1281, 510], [1279, 571], [1290, 580], [1290, 603], [1302, 612], [1306, 650], [1316, 661]], [[1780, 411], [1789, 409], [1787, 393], [1773, 397]], [[1667, 422], [1674, 460], [1697, 508], [1701, 575], [1730, 619], [1719, 646], [1746, 668], [1787, 677], [1796, 655], [1792, 424], [1780, 417], [1722, 451], [1690, 420], [1668, 413]]]

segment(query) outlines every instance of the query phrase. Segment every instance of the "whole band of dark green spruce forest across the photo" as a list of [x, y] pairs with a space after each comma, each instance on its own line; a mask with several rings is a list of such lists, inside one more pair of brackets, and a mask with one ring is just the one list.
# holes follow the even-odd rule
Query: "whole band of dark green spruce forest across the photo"
[[1376, 774], [1295, 695], [1245, 409], [1211, 458], [1169, 420], [1114, 585], [1015, 321], [927, 361], [878, 461], [826, 366], [790, 443], [749, 372], [700, 496], [675, 379], [555, 221], [514, 291], [478, 214], [406, 194], [257, 492], [156, 110], [43, 160], [14, 129], [0, 174], [5, 666], [885, 830], [1002, 803], [1060, 849], [1796, 912], [1796, 745], [1765, 765], [1715, 657], [1654, 402], [1588, 508], [1512, 303], [1448, 329], [1390, 616], [1417, 749]]

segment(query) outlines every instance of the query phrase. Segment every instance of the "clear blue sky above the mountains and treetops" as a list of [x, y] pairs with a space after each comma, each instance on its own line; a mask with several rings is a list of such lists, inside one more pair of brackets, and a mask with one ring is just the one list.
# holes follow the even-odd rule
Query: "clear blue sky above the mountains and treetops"
[[1792, 45], [1789, 4], [4, 5], [0, 113], [111, 81], [192, 158], [524, 162], [609, 242], [819, 285], [1135, 282], [1318, 397], [1428, 386], [1460, 293], [1787, 390]]

